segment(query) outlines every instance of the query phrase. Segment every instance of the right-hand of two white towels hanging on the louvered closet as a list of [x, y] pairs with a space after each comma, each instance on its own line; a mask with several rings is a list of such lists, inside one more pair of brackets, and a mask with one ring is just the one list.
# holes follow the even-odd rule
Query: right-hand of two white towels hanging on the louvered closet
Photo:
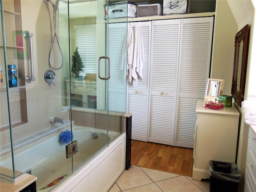
[[133, 54], [133, 65], [132, 65], [132, 84], [136, 86], [138, 84], [138, 78], [142, 80], [142, 69], [144, 62], [144, 46], [143, 38], [140, 26], [137, 24], [134, 31], [134, 54]]

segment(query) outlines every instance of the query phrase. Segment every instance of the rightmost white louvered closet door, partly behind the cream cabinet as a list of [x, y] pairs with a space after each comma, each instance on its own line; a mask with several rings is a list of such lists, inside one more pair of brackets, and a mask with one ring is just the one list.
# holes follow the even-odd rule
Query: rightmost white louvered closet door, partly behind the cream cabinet
[[[182, 19], [174, 146], [193, 148], [196, 104], [209, 78], [213, 17]], [[210, 122], [209, 122], [210, 123]]]

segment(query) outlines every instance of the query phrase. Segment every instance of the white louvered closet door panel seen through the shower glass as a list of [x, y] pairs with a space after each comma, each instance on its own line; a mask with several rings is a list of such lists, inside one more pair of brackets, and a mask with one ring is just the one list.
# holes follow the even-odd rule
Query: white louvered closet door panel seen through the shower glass
[[108, 56], [111, 75], [108, 80], [108, 110], [126, 111], [126, 23], [108, 24]]

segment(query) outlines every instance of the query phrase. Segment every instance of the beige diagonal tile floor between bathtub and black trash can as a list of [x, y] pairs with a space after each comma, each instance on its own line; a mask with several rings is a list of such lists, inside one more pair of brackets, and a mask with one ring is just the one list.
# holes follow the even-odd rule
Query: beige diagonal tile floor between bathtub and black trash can
[[109, 192], [209, 192], [210, 180], [132, 166], [125, 170]]

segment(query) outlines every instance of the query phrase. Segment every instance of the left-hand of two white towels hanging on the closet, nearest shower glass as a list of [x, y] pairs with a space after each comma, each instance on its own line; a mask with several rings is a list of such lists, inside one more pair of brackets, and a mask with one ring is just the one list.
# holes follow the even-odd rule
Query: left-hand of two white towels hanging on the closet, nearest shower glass
[[133, 52], [134, 52], [134, 33], [132, 27], [129, 27], [127, 32], [127, 78], [132, 82], [132, 65], [133, 65]]

